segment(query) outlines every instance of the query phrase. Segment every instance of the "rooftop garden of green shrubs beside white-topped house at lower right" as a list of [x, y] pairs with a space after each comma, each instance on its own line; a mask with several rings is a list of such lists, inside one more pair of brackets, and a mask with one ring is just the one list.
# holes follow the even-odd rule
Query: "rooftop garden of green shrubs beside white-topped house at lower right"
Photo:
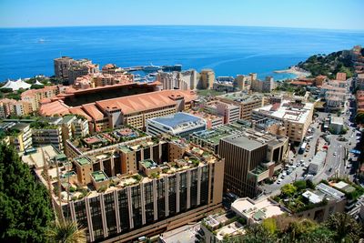
[[326, 199], [323, 199], [319, 203], [311, 203], [306, 197], [302, 196], [308, 189], [315, 189], [315, 185], [312, 181], [298, 180], [293, 184], [286, 184], [281, 187], [280, 195], [273, 197], [273, 199], [278, 203], [283, 204], [293, 213], [303, 212], [311, 208], [324, 206], [328, 203]]

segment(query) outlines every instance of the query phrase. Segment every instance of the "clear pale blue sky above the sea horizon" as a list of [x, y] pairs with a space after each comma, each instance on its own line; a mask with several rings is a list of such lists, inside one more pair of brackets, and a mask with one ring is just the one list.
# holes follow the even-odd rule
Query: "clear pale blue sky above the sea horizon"
[[363, 9], [363, 0], [0, 0], [0, 27], [259, 25], [364, 29]]

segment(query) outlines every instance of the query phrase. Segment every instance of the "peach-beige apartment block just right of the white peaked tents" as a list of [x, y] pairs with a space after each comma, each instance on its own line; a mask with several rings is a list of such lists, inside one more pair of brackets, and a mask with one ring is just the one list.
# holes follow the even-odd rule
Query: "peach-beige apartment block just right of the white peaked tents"
[[38, 110], [41, 100], [45, 98], [52, 98], [59, 94], [58, 86], [45, 86], [39, 89], [29, 89], [22, 93], [23, 101], [32, 104], [34, 111]]

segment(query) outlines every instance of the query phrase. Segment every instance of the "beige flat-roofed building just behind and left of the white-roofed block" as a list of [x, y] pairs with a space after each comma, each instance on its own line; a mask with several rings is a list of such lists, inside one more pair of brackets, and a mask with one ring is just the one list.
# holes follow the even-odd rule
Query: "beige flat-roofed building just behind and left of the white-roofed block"
[[265, 97], [261, 95], [248, 95], [244, 92], [236, 92], [223, 96], [217, 96], [217, 99], [235, 106], [240, 107], [240, 119], [250, 120], [253, 109], [261, 107], [265, 103]]

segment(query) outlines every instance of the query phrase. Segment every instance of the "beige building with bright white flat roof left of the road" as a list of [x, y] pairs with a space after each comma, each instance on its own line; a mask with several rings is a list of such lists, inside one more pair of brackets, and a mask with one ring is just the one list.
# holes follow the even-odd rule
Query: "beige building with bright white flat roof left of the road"
[[312, 103], [284, 100], [282, 103], [254, 109], [253, 120], [263, 118], [276, 120], [285, 127], [289, 141], [300, 143], [312, 122], [313, 108]]

